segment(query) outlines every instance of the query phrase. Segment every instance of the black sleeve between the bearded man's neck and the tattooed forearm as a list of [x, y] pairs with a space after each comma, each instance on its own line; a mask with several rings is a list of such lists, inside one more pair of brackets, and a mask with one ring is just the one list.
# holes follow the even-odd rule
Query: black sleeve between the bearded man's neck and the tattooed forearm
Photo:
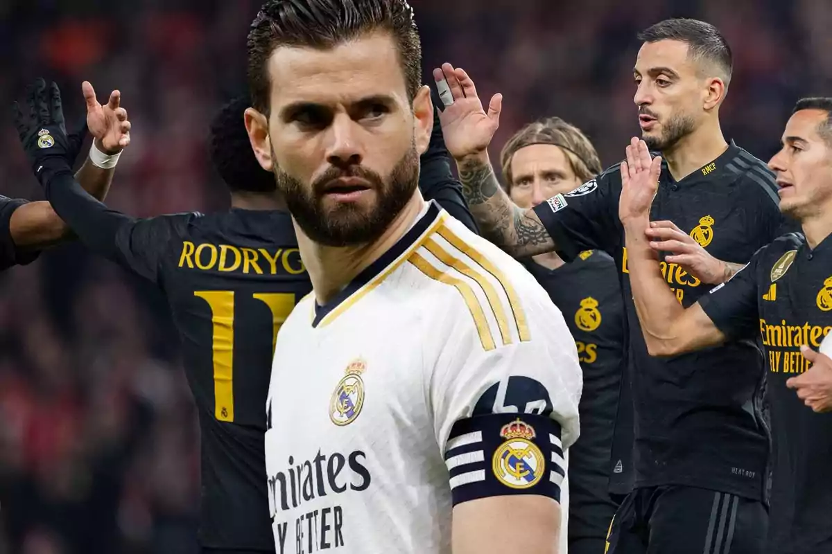
[[436, 200], [453, 218], [461, 221], [467, 228], [479, 234], [468, 203], [463, 196], [462, 184], [454, 179], [451, 172], [451, 154], [445, 147], [442, 125], [439, 123], [438, 105], [441, 104], [438, 92], [430, 89], [433, 98], [433, 131], [430, 135], [428, 151], [422, 154], [418, 186], [426, 200]]

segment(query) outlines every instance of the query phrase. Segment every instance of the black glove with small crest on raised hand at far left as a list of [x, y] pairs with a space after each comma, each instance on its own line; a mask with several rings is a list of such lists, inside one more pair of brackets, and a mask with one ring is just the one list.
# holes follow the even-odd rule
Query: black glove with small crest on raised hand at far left
[[72, 174], [72, 165], [87, 138], [87, 121], [77, 133], [67, 135], [61, 107], [61, 91], [52, 83], [47, 91], [47, 83], [38, 79], [26, 88], [29, 117], [25, 117], [20, 105], [14, 103], [14, 123], [17, 135], [32, 171], [42, 187], [46, 187], [52, 177], [68, 172]]

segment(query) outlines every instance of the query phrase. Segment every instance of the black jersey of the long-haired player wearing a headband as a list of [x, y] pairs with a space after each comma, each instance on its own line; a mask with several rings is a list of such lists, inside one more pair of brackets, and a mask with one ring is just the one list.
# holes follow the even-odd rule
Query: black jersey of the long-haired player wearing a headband
[[[614, 483], [631, 473], [632, 452], [632, 420], [617, 418], [626, 368], [618, 272], [612, 257], [593, 250], [557, 269], [533, 261], [525, 265], [562, 312], [583, 372], [581, 437], [569, 449], [569, 539], [606, 537], [617, 507], [610, 493], [629, 492]], [[613, 434], [629, 441], [613, 441]], [[614, 443], [629, 448], [617, 452]]]

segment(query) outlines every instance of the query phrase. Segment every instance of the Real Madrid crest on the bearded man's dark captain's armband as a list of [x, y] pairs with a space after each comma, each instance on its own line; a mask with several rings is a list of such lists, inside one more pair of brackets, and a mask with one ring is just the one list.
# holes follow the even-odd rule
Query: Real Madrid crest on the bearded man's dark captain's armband
[[494, 453], [492, 468], [494, 477], [511, 488], [533, 487], [546, 469], [546, 458], [532, 443], [534, 428], [515, 419], [500, 429], [500, 436], [506, 439]]

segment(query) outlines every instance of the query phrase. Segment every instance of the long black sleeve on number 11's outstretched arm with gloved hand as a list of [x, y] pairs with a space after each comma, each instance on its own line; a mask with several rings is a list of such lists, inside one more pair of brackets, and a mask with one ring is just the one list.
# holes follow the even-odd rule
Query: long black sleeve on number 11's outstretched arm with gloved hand
[[175, 214], [131, 218], [94, 199], [68, 173], [51, 179], [46, 194], [52, 208], [87, 248], [151, 282], [158, 281], [161, 258], [170, 239], [180, 234], [193, 217]]

